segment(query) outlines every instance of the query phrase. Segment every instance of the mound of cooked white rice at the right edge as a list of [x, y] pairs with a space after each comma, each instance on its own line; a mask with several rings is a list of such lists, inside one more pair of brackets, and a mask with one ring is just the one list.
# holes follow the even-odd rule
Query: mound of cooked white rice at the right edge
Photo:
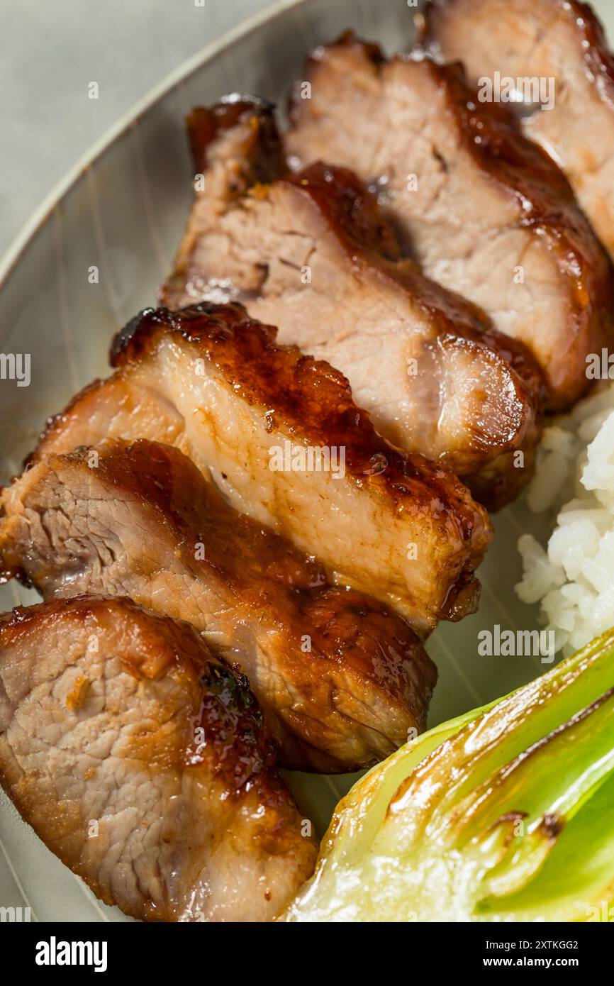
[[541, 603], [556, 649], [571, 653], [614, 626], [614, 384], [546, 428], [527, 503], [558, 516], [545, 547], [519, 538], [516, 593]]

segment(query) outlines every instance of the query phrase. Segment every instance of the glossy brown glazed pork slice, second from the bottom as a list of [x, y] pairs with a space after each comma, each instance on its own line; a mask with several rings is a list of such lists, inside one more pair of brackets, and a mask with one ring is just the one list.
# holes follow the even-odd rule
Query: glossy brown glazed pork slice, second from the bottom
[[357, 770], [425, 727], [437, 678], [394, 611], [230, 507], [176, 449], [49, 456], [5, 490], [0, 554], [45, 599], [125, 595], [245, 674], [284, 766]]

